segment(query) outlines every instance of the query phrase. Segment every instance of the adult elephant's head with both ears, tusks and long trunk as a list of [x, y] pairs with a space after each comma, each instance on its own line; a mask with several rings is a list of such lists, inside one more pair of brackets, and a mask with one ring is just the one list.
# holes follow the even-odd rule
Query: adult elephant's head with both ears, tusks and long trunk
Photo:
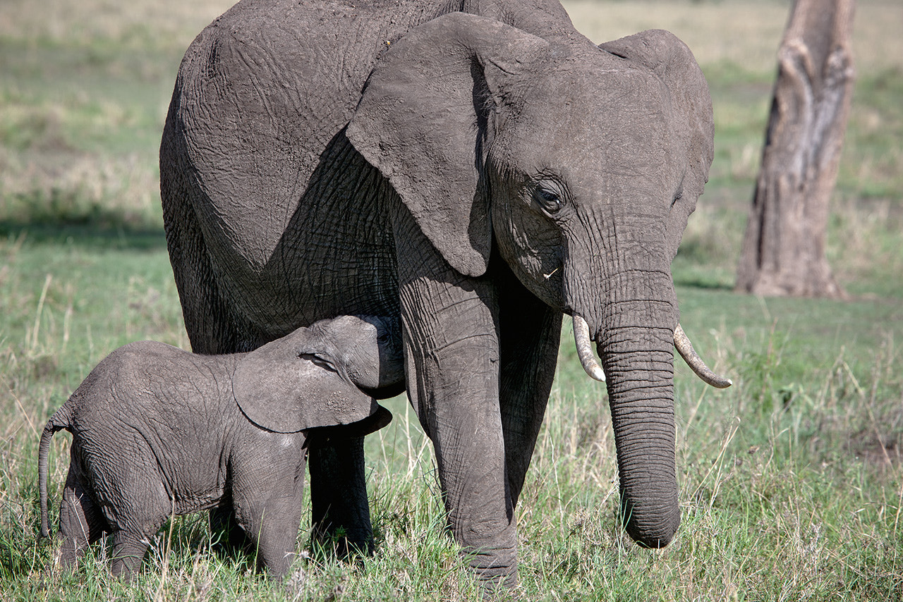
[[[662, 31], [597, 47], [449, 14], [386, 51], [347, 134], [454, 269], [479, 276], [498, 249], [573, 316], [584, 368], [608, 375], [628, 533], [666, 545], [680, 521], [675, 332], [684, 340], [670, 264], [712, 162], [691, 52]], [[688, 342], [681, 352], [727, 384]]]

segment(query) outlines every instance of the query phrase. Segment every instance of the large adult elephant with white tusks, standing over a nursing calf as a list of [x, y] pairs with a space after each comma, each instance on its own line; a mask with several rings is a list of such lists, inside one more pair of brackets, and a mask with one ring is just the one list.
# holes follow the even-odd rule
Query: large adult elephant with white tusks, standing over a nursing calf
[[[452, 533], [479, 577], [512, 583], [514, 508], [570, 314], [587, 372], [608, 375], [627, 531], [666, 545], [670, 263], [711, 162], [708, 89], [670, 33], [596, 46], [546, 0], [243, 0], [191, 44], [163, 131], [191, 346], [400, 315]], [[362, 453], [354, 440], [311, 458], [315, 523], [358, 543]]]

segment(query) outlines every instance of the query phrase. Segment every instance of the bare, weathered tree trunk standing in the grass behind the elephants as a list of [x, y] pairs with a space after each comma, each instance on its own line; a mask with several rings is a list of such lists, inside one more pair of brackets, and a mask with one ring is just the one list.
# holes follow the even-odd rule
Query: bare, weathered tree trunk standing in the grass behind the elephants
[[850, 112], [855, 0], [796, 0], [777, 81], [737, 290], [843, 297], [824, 254], [828, 204]]

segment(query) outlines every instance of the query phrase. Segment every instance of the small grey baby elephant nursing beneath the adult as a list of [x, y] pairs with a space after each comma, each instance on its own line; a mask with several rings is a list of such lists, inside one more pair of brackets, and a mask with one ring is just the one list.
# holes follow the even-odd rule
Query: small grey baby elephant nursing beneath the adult
[[[397, 320], [341, 316], [249, 353], [201, 356], [143, 341], [98, 364], [41, 436], [41, 536], [47, 455], [72, 433], [60, 508], [60, 558], [113, 536], [112, 572], [126, 579], [173, 514], [230, 505], [276, 579], [294, 557], [309, 429], [363, 436], [391, 419], [371, 395], [404, 381]], [[364, 391], [366, 391], [366, 393]]]

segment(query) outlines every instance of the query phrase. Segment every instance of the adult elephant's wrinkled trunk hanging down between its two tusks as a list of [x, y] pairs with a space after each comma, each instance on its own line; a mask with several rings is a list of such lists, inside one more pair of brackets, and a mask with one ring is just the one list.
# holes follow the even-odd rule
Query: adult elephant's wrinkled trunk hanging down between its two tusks
[[[640, 545], [658, 548], [671, 542], [680, 524], [674, 410], [677, 299], [666, 266], [608, 273], [600, 282], [601, 301], [579, 296], [572, 303], [573, 314], [585, 318], [606, 376], [624, 528]], [[569, 290], [581, 293], [585, 288], [575, 283]], [[575, 329], [584, 324], [574, 323]]]

